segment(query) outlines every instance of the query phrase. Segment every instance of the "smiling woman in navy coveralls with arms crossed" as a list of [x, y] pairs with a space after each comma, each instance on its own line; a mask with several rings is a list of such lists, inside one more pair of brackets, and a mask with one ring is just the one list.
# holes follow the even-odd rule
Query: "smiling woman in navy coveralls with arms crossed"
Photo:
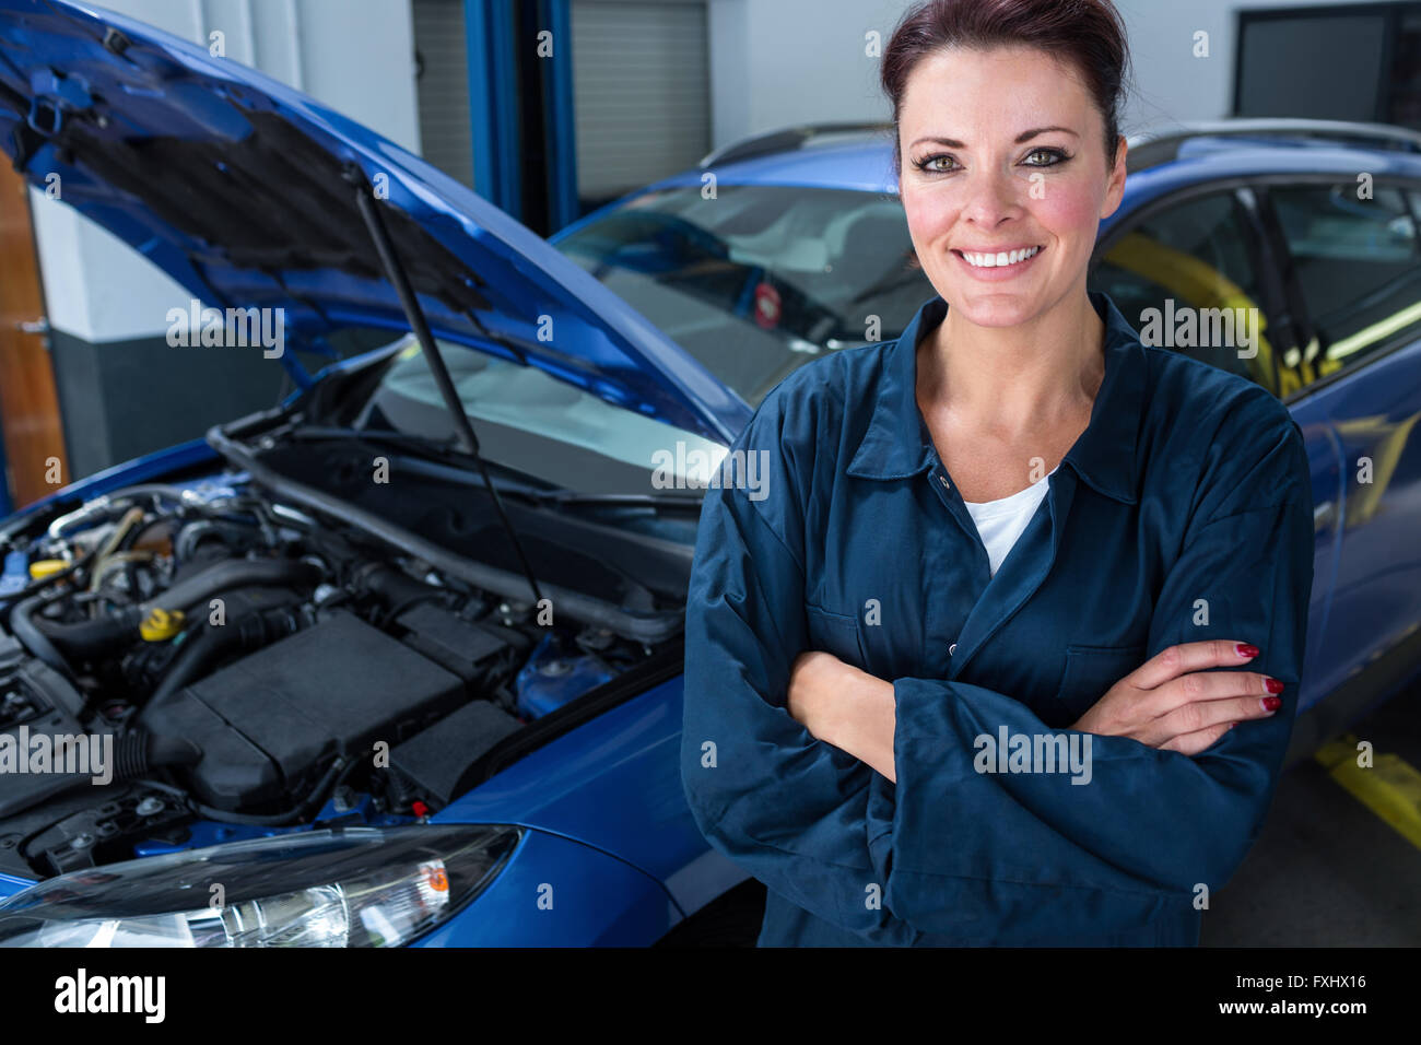
[[936, 0], [887, 48], [938, 297], [763, 401], [767, 485], [708, 492], [686, 611], [682, 779], [762, 945], [1195, 944], [1258, 833], [1307, 462], [1086, 290], [1124, 65], [1108, 0]]

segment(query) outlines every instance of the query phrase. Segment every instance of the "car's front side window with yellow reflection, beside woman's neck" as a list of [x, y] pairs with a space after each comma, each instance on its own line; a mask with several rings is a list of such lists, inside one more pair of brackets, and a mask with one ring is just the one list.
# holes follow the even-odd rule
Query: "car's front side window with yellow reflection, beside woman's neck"
[[1172, 348], [1280, 394], [1252, 223], [1232, 192], [1154, 210], [1090, 273], [1145, 344]]

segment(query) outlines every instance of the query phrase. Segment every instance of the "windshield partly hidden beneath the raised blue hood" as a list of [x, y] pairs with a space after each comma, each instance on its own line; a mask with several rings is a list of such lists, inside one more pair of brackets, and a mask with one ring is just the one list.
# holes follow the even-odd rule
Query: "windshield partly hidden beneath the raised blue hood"
[[[414, 336], [399, 341], [357, 428], [450, 438], [453, 424]], [[487, 461], [585, 493], [699, 491], [728, 448], [546, 374], [436, 340]]]

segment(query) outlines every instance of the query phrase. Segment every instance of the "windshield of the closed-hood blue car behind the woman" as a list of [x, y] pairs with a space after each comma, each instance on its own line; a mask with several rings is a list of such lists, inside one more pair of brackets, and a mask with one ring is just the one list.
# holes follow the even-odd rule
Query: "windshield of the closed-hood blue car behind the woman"
[[894, 195], [783, 185], [648, 192], [554, 246], [747, 404], [837, 348], [898, 337], [935, 294]]

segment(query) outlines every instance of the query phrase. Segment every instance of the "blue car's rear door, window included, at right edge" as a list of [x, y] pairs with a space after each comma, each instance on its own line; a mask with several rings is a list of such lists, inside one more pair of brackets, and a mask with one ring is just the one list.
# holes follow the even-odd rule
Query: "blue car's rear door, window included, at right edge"
[[1295, 414], [1336, 432], [1336, 580], [1314, 678], [1351, 714], [1421, 664], [1421, 182], [1356, 175], [1263, 191], [1306, 333]]

